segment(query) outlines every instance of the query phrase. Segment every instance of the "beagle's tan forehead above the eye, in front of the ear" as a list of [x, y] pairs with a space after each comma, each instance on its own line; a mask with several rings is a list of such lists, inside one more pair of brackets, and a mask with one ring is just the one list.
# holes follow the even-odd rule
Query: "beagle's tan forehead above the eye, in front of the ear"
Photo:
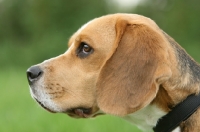
[[90, 39], [93, 42], [113, 42], [116, 35], [115, 23], [113, 16], [104, 16], [90, 20], [72, 35], [68, 43], [69, 47], [75, 44], [75, 42], [84, 41], [85, 39]]

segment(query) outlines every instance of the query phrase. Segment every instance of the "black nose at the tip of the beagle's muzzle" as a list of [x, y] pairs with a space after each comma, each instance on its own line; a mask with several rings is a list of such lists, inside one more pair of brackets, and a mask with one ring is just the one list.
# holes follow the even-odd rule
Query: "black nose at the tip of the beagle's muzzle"
[[27, 78], [29, 84], [37, 81], [39, 77], [42, 75], [43, 71], [40, 69], [39, 66], [31, 66], [27, 71]]

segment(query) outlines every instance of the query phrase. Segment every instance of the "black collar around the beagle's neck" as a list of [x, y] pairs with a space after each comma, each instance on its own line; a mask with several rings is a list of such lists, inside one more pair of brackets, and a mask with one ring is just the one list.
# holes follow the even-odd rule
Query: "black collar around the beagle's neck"
[[172, 110], [158, 120], [153, 128], [154, 132], [171, 132], [188, 119], [200, 106], [200, 94], [190, 95], [183, 102], [176, 105]]

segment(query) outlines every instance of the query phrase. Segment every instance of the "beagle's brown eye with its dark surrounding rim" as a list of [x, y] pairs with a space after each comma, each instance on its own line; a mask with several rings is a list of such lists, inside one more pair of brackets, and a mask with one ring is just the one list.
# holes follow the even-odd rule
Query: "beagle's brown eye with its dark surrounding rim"
[[93, 53], [93, 48], [91, 46], [89, 46], [87, 43], [85, 42], [81, 42], [80, 46], [77, 49], [77, 56], [79, 58], [85, 58], [88, 55], [90, 55], [91, 53]]

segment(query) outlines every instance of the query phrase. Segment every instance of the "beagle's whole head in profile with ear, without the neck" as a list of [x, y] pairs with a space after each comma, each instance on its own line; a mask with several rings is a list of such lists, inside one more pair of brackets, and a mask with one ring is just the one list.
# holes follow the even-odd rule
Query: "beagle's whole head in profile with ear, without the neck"
[[45, 109], [72, 117], [133, 113], [171, 76], [167, 45], [149, 18], [96, 18], [74, 33], [64, 54], [27, 70], [31, 95]]

